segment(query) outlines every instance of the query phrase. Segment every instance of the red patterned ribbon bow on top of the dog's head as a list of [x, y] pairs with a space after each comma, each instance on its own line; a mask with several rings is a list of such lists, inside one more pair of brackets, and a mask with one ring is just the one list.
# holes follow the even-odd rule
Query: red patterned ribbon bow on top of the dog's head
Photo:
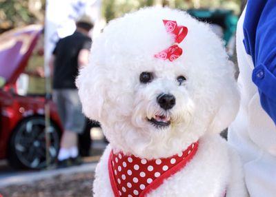
[[188, 28], [185, 26], [177, 26], [177, 21], [163, 20], [163, 23], [166, 31], [175, 35], [175, 43], [166, 50], [162, 50], [161, 52], [155, 54], [155, 57], [158, 59], [168, 59], [169, 61], [174, 61], [182, 54], [182, 49], [179, 48], [178, 44], [185, 39], [188, 34]]

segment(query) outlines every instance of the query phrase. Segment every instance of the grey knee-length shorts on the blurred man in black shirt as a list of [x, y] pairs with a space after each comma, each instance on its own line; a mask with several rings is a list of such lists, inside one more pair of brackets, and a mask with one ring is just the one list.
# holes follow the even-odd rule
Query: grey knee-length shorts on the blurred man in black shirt
[[63, 128], [66, 131], [81, 134], [86, 123], [86, 118], [81, 112], [81, 101], [79, 100], [78, 90], [53, 90], [52, 99], [57, 105]]

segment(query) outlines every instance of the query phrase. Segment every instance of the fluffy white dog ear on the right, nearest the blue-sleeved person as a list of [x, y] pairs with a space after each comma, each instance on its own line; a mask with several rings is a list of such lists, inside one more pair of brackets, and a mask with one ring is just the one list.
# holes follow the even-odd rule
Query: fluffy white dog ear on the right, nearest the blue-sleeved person
[[[230, 85], [233, 84], [233, 85]], [[210, 119], [208, 132], [220, 133], [235, 120], [239, 110], [239, 91], [233, 81], [221, 85], [220, 94], [216, 99], [216, 108]]]

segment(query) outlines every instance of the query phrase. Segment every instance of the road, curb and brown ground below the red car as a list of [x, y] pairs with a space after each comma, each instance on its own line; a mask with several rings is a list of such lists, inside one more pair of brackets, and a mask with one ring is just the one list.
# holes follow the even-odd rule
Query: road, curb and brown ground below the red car
[[83, 164], [65, 169], [14, 171], [6, 161], [0, 162], [0, 194], [3, 197], [86, 197], [92, 196], [95, 167], [104, 141], [93, 141], [92, 156]]

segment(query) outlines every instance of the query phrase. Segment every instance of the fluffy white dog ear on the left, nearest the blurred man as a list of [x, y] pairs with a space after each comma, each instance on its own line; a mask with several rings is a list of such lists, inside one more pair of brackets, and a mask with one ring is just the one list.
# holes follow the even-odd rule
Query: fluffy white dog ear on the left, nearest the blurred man
[[81, 68], [76, 79], [83, 114], [95, 121], [101, 121], [101, 109], [105, 98], [106, 87], [102, 76], [101, 68], [87, 65]]

